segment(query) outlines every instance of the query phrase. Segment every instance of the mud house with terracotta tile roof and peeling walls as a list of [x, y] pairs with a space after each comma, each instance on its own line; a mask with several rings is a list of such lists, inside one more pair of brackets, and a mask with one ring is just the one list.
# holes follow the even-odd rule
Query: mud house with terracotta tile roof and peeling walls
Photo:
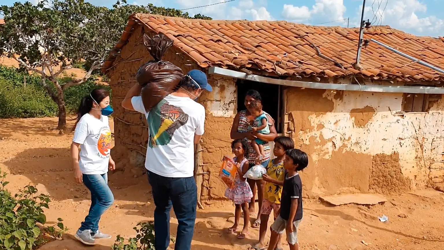
[[366, 29], [373, 42], [362, 48], [359, 68], [352, 66], [357, 28], [134, 14], [103, 70], [113, 90], [116, 150], [140, 154], [145, 118], [120, 102], [151, 59], [143, 32], [173, 39], [163, 59], [184, 73], [205, 71], [213, 86], [199, 99], [207, 112], [196, 156], [201, 199], [223, 197], [220, 160], [230, 153], [231, 123], [248, 89], [260, 91], [278, 133], [309, 154], [306, 195], [399, 193], [444, 181], [443, 38]]

